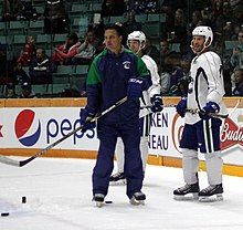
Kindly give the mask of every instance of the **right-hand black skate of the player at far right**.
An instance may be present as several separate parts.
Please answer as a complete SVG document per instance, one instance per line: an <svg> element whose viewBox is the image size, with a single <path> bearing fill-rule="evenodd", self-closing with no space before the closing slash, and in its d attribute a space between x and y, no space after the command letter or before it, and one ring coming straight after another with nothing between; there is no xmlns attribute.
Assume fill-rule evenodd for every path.
<svg viewBox="0 0 243 230"><path fill-rule="evenodd" d="M222 184L209 186L199 192L199 201L220 201L223 200L223 186Z"/></svg>

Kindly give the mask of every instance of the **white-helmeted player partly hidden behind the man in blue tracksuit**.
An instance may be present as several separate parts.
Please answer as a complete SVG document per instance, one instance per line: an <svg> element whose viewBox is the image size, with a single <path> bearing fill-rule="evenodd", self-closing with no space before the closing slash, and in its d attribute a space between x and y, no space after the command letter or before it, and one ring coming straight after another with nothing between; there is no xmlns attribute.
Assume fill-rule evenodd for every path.
<svg viewBox="0 0 243 230"><path fill-rule="evenodd" d="M146 35L141 31L134 31L128 34L127 45L128 48L141 56L141 60L145 62L146 66L150 71L152 85L148 91L142 92L142 97L140 98L140 151L142 168L145 170L147 159L148 159L148 135L150 132L150 122L151 113L161 112L163 108L162 98L160 96L161 86L160 77L158 74L158 66L156 62L148 55L142 54L142 49L145 48ZM148 108L142 108L142 107ZM150 108L149 108L150 107ZM123 184L125 182L126 176L124 175L124 145L120 138L117 140L116 145L116 158L117 158L117 168L118 172L110 177L112 184Z"/></svg>

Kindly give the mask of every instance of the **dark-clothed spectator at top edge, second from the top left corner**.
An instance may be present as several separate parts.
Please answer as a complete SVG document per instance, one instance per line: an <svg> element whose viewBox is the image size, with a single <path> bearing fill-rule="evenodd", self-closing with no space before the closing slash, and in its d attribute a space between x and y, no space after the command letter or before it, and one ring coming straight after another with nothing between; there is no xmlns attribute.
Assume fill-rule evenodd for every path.
<svg viewBox="0 0 243 230"><path fill-rule="evenodd" d="M40 14L32 4L32 0L22 1L22 10L20 13L20 20L35 21Z"/></svg>

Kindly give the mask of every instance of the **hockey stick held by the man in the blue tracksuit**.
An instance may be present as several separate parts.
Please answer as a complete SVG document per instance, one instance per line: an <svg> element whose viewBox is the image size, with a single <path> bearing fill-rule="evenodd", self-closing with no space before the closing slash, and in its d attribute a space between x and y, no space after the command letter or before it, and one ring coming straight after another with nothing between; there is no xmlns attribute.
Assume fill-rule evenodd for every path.
<svg viewBox="0 0 243 230"><path fill-rule="evenodd" d="M104 112L102 112L101 115L93 117L92 119L87 121L87 122L95 122L96 119L99 119L101 117L103 117L104 115L106 115L107 113L109 113L110 111L115 109L116 107L118 107L119 105L122 105L123 103L125 103L127 101L127 96L124 97L123 100L116 102L114 105L112 105L110 107L108 107L107 109L105 109ZM32 157L29 157L28 159L24 160L14 160L4 156L0 156L0 163L7 164L7 165L12 165L12 166L17 166L17 167L22 167L25 166L27 164L29 164L30 161L32 161L33 159L35 159L36 157L40 157L41 155L43 155L45 151L50 150L51 148L55 147L56 145L59 145L60 143L62 143L63 140L65 140L66 138L68 138L70 136L72 136L73 134L75 134L76 132L81 130L84 127L84 125L80 126L78 128L70 132L66 136L63 136L62 138L57 139L56 142L52 143L51 145L49 145L46 148L42 149L41 151L36 153L35 155L33 155Z"/></svg>

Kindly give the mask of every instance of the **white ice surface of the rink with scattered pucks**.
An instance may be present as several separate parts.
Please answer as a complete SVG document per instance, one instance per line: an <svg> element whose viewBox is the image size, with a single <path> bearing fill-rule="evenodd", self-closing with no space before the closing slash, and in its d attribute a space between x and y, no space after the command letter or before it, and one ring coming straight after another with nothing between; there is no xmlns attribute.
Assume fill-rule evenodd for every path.
<svg viewBox="0 0 243 230"><path fill-rule="evenodd" d="M38 158L23 168L0 164L0 230L242 230L243 178L224 176L224 201L176 201L177 168L148 166L145 206L131 206L125 186L110 186L96 208L91 201L95 160ZM207 186L204 172L200 186ZM27 203L21 198L27 197Z"/></svg>

